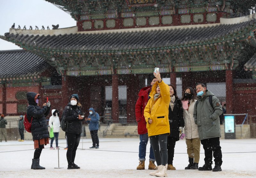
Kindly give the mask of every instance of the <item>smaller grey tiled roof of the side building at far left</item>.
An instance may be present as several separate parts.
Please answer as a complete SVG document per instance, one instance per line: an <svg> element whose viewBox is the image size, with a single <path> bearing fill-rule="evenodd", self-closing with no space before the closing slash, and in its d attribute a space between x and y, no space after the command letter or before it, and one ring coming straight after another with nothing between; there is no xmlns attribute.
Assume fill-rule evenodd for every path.
<svg viewBox="0 0 256 178"><path fill-rule="evenodd" d="M49 64L41 57L25 50L0 51L0 78L36 76Z"/></svg>

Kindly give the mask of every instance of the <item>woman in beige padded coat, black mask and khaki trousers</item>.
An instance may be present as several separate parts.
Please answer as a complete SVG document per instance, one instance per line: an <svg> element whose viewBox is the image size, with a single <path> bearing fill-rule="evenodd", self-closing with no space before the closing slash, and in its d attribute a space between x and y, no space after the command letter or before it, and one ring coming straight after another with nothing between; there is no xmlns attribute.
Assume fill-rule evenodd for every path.
<svg viewBox="0 0 256 178"><path fill-rule="evenodd" d="M198 169L200 158L200 139L198 136L197 125L194 121L193 113L196 103L195 92L193 88L187 87L181 98L183 117L185 123L185 135L187 144L187 153L189 164L185 169ZM195 159L195 160L194 160Z"/></svg>

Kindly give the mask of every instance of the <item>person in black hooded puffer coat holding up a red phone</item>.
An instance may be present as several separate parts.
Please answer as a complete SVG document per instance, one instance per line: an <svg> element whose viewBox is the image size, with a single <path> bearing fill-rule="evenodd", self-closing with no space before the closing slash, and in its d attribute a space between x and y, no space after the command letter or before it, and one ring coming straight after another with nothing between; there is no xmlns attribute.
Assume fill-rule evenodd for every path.
<svg viewBox="0 0 256 178"><path fill-rule="evenodd" d="M39 165L40 155L44 148L44 145L49 144L49 131L46 122L46 116L50 113L51 103L48 101L43 104L43 107L39 107L38 103L40 100L40 95L35 92L28 92L28 108L27 108L27 118L31 122L31 134L34 141L34 159L32 159L31 169L45 169Z"/></svg>

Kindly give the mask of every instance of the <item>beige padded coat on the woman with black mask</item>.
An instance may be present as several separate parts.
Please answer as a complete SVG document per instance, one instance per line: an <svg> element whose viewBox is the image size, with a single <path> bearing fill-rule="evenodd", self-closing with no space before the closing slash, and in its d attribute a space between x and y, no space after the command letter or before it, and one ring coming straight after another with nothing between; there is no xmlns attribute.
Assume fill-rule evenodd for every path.
<svg viewBox="0 0 256 178"><path fill-rule="evenodd" d="M185 135L187 139L192 139L192 138L198 138L198 131L197 131L197 125L194 120L194 107L196 100L192 102L192 100L189 101L189 107L187 109L183 109L183 117L184 117L184 123L185 123Z"/></svg>

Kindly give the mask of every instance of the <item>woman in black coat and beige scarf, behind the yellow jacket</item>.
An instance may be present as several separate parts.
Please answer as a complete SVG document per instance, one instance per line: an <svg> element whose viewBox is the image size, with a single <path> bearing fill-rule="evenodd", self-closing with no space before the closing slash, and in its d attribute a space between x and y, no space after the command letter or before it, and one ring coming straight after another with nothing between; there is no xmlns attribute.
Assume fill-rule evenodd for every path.
<svg viewBox="0 0 256 178"><path fill-rule="evenodd" d="M180 99L177 96L176 89L173 85L170 87L171 101L169 104L169 123L170 123L170 135L167 138L167 150L168 150L168 161L167 169L176 170L172 165L174 157L174 147L176 141L180 140L180 130L184 127L183 119L183 108Z"/></svg>

